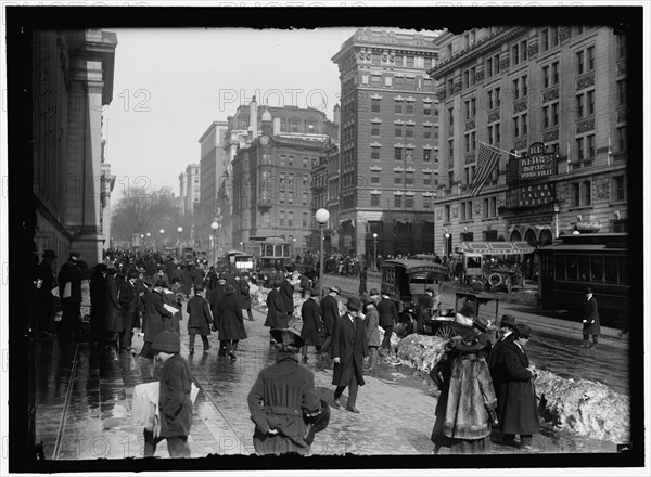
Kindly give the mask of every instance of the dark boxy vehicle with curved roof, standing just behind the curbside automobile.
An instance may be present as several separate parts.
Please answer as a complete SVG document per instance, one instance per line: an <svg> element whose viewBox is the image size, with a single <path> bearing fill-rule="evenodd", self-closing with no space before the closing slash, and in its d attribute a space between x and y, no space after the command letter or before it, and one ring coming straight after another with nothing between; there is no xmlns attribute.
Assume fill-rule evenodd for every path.
<svg viewBox="0 0 651 477"><path fill-rule="evenodd" d="M425 260L384 260L381 291L398 308L398 323L405 335L417 327L417 302L427 288L441 291L441 282L448 275L442 265Z"/></svg>

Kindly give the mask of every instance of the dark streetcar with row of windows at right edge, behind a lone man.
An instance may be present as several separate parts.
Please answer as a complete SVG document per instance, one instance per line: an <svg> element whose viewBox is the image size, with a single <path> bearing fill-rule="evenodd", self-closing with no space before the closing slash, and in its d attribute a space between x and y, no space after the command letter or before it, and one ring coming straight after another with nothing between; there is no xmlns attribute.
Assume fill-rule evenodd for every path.
<svg viewBox="0 0 651 477"><path fill-rule="evenodd" d="M580 321L585 289L599 304L601 324L628 327L630 282L627 233L561 235L538 248L538 298L547 311L570 311Z"/></svg>

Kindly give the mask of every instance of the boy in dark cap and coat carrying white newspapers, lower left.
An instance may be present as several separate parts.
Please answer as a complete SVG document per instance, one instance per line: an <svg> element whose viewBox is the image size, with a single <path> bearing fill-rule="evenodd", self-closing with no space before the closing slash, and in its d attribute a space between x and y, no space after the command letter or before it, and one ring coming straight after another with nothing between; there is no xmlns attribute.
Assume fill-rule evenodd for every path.
<svg viewBox="0 0 651 477"><path fill-rule="evenodd" d="M159 379L158 409L161 433L154 436L144 430L144 456L152 457L156 446L167 439L170 457L190 457L188 435L192 426L192 373L188 361L181 357L181 339L178 333L165 330L156 335L152 345L156 361L163 364Z"/></svg>

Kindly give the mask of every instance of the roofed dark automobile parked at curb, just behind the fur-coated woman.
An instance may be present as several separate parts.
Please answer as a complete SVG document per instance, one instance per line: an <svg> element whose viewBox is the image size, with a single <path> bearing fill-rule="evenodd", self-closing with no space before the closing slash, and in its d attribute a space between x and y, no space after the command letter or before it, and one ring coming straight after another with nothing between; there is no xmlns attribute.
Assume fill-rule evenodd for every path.
<svg viewBox="0 0 651 477"><path fill-rule="evenodd" d="M495 307L495 308L494 308ZM495 343L499 312L499 298L489 293L457 292L455 294L455 308L442 309L433 317L426 318L423 324L423 334L450 339L455 336L465 337L474 333L472 322L480 314L489 321L488 334Z"/></svg>

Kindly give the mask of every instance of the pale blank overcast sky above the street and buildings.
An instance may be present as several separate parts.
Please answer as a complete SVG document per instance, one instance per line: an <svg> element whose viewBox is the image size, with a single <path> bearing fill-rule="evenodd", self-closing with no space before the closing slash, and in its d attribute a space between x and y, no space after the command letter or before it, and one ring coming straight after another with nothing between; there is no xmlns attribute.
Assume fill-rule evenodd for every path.
<svg viewBox="0 0 651 477"><path fill-rule="evenodd" d="M137 180L136 186L171 185L178 194L179 173L200 162L199 138L253 94L258 104L295 103L332 118L340 82L330 59L355 31L106 30L118 41L113 102L104 112L114 199Z"/></svg>

